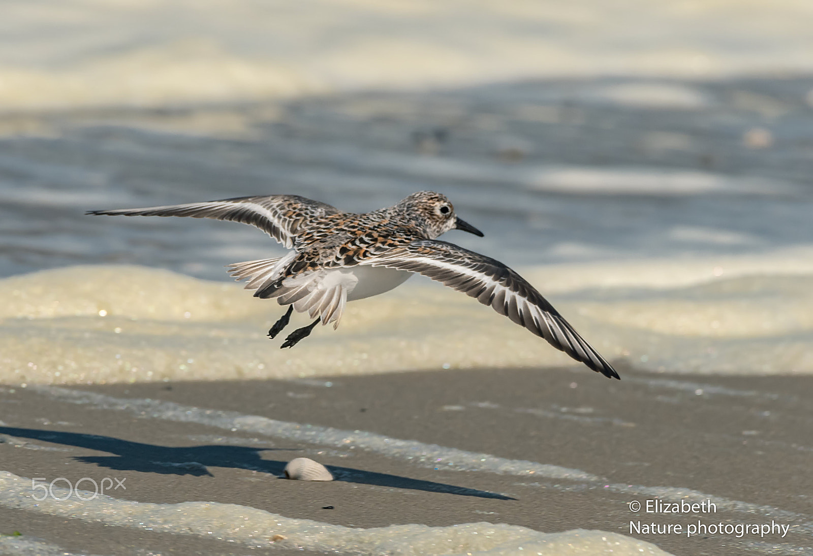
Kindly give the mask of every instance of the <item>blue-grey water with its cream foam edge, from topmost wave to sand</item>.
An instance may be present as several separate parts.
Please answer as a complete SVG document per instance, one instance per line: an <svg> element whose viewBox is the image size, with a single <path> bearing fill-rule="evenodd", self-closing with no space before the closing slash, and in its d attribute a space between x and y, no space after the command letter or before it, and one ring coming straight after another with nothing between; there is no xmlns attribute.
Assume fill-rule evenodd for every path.
<svg viewBox="0 0 813 556"><path fill-rule="evenodd" d="M659 83L37 116L40 132L0 138L0 378L572 363L422 277L351 303L338 331L319 328L309 349L280 351L265 337L280 306L224 271L284 252L263 232L84 214L257 193L369 211L421 189L446 193L485 232L444 239L522 271L611 360L651 371L813 371L813 80ZM698 102L677 102L678 91Z"/></svg>

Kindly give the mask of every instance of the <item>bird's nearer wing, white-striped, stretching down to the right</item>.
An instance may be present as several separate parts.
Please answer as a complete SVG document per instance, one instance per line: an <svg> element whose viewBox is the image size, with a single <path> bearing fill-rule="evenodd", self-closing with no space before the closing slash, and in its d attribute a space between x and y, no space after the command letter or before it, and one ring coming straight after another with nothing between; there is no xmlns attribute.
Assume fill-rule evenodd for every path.
<svg viewBox="0 0 813 556"><path fill-rule="evenodd" d="M553 306L522 276L499 261L437 240L412 241L367 260L375 267L418 272L490 305L500 315L545 338L576 361L610 378L620 378Z"/></svg>

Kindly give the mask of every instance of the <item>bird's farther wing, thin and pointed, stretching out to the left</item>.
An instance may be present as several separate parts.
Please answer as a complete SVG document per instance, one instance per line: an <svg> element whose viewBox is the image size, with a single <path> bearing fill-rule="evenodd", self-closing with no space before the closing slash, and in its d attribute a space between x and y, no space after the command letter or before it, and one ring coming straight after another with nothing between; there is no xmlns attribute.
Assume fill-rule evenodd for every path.
<svg viewBox="0 0 813 556"><path fill-rule="evenodd" d="M313 219L338 213L324 202L311 201L298 195L237 197L220 201L189 202L183 205L150 206L113 211L87 211L88 215L124 216L191 216L231 220L250 224L266 232L291 249L298 233L308 228Z"/></svg>

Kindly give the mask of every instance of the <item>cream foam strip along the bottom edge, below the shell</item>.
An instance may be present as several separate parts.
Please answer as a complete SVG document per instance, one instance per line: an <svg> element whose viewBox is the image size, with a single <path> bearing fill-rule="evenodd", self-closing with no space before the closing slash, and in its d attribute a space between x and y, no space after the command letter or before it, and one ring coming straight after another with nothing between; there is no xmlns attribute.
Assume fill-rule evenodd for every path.
<svg viewBox="0 0 813 556"><path fill-rule="evenodd" d="M66 497L54 488L55 497ZM30 479L0 471L0 505L121 527L171 532L239 542L280 545L332 554L667 554L646 541L612 532L574 529L544 533L505 523L462 523L429 527L417 523L383 528L349 528L310 519L293 519L250 506L218 502L156 504L80 492L57 501L35 500ZM79 498L85 498L80 500ZM90 499L92 498L92 499ZM2 545L0 545L2 548Z"/></svg>

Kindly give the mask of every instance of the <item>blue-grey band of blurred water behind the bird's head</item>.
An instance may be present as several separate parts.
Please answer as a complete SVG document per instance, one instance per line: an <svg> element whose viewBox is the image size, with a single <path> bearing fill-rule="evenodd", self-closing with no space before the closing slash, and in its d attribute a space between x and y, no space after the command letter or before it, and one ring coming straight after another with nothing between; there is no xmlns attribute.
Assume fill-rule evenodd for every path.
<svg viewBox="0 0 813 556"><path fill-rule="evenodd" d="M594 94L651 87L549 80L6 119L33 131L0 136L0 276L133 263L225 280L225 264L280 247L240 224L84 212L263 193L362 212L437 190L485 232L448 241L515 266L811 242L813 80L680 82L706 99L691 107Z"/></svg>

